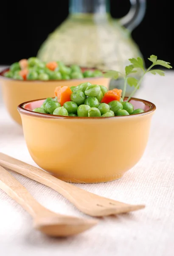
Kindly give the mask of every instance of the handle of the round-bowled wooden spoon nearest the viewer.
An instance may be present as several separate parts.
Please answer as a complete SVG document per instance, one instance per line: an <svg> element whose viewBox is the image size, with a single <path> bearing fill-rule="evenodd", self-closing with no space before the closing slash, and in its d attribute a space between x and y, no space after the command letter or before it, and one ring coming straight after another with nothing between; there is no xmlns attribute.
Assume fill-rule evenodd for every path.
<svg viewBox="0 0 174 256"><path fill-rule="evenodd" d="M47 210L30 195L27 189L21 185L9 172L0 166L0 189L17 201L28 213L35 217L39 211Z"/></svg>

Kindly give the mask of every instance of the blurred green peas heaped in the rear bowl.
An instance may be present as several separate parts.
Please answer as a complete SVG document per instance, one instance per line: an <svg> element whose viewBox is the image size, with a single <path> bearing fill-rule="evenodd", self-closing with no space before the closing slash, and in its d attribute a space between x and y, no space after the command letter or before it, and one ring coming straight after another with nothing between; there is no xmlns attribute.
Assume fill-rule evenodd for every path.
<svg viewBox="0 0 174 256"><path fill-rule="evenodd" d="M28 74L26 79L20 75L20 61L11 64L9 71L4 73L5 77L18 80L69 80L69 79L83 79L87 77L103 76L100 70L85 70L84 72L78 65L66 66L62 61L56 61L58 66L55 70L50 70L46 67L46 62L39 60L36 57L28 58L27 60Z"/></svg>

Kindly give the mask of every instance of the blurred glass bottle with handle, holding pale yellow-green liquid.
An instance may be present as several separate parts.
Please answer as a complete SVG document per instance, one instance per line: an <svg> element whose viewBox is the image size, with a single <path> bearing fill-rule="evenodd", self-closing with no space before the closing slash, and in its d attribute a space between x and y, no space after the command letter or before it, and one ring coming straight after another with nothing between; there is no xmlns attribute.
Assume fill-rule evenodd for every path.
<svg viewBox="0 0 174 256"><path fill-rule="evenodd" d="M109 0L70 0L69 16L48 36L38 57L42 61L60 60L67 65L124 72L129 58L142 56L131 32L143 19L146 0L130 3L129 13L117 20L109 13ZM111 82L111 87L116 86L122 87L122 80ZM128 87L126 95L131 90Z"/></svg>

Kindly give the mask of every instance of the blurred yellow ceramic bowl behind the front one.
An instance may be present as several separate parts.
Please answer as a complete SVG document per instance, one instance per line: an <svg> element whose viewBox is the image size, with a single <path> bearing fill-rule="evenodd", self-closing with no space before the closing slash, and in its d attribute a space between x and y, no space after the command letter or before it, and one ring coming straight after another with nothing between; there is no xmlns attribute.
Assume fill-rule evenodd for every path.
<svg viewBox="0 0 174 256"><path fill-rule="evenodd" d="M20 81L6 78L0 73L0 83L3 92L3 101L11 117L19 124L21 118L17 112L17 106L21 102L27 102L33 99L53 97L56 86L77 86L84 82L91 84L102 84L109 88L110 79L104 77L91 77L84 79L70 79L60 81Z"/></svg>

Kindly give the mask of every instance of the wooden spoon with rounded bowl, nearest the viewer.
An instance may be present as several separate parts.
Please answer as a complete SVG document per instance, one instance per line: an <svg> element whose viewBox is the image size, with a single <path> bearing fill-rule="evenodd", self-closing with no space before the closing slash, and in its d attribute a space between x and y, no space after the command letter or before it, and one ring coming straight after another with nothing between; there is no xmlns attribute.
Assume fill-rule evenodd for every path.
<svg viewBox="0 0 174 256"><path fill-rule="evenodd" d="M0 166L0 189L34 218L34 227L49 236L72 236L90 229L97 221L57 214L39 204L9 172Z"/></svg>

